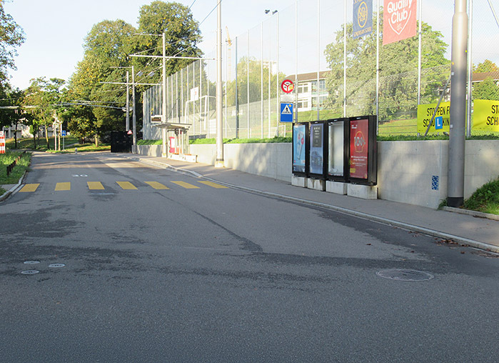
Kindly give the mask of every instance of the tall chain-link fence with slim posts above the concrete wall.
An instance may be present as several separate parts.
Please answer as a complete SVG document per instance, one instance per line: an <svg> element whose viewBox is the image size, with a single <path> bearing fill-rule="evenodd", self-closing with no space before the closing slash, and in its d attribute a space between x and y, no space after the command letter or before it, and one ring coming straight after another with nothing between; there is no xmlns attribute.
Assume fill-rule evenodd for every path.
<svg viewBox="0 0 499 363"><path fill-rule="evenodd" d="M388 1L388 0L387 0ZM416 1L416 0L413 0ZM454 1L418 0L415 36L383 45L383 0L372 0L372 31L353 37L356 0L300 0L223 44L223 136L284 135L281 81L291 79L294 121L377 114L378 134L418 133L418 104L448 101ZM369 1L364 1L369 2ZM392 1L394 2L394 1ZM340 3L340 4L338 4ZM468 73L473 97L499 80L499 0L468 0ZM216 135L214 53L168 77L168 122L189 124L194 138ZM345 69L346 65L346 69ZM481 83L480 83L481 82ZM477 91L478 89L478 91ZM490 93L490 92L489 92ZM144 94L144 138L160 136L161 86Z"/></svg>

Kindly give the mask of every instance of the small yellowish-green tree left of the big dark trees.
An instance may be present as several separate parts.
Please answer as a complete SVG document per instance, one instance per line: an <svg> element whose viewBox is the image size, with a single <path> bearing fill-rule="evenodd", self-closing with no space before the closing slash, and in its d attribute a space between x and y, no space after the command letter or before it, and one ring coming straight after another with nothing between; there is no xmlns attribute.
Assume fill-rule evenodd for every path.
<svg viewBox="0 0 499 363"><path fill-rule="evenodd" d="M49 125L54 120L57 111L61 109L61 87L66 81L64 79L45 77L31 79L31 85L26 89L24 96L25 106L34 106L26 108L26 112L31 114L31 123L34 131L44 126L47 149L50 149L49 143Z"/></svg>

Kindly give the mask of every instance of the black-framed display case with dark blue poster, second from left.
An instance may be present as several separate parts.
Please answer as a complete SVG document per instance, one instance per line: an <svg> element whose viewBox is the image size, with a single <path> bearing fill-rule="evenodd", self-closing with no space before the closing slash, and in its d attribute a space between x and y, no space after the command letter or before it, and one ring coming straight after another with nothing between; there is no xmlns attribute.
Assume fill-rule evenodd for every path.
<svg viewBox="0 0 499 363"><path fill-rule="evenodd" d="M327 133L328 129L326 121L316 121L310 123L308 175L316 179L326 179L328 156L326 151Z"/></svg>

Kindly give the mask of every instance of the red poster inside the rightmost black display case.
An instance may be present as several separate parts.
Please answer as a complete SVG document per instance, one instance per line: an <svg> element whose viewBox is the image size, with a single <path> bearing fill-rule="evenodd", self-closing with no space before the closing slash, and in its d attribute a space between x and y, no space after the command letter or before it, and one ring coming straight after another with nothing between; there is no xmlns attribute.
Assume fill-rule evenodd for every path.
<svg viewBox="0 0 499 363"><path fill-rule="evenodd" d="M350 121L350 176L368 179L368 119Z"/></svg>

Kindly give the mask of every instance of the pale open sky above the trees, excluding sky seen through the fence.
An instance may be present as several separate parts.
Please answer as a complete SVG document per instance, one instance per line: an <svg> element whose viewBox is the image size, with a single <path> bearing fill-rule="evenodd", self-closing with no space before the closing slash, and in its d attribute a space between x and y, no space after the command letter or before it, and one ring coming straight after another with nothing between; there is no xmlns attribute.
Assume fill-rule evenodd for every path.
<svg viewBox="0 0 499 363"><path fill-rule="evenodd" d="M191 6L194 19L201 22L216 7L217 0L176 0ZM84 38L94 24L122 19L137 27L141 6L151 0L6 0L4 9L13 16L26 34L15 58L17 71L9 71L11 84L26 89L29 80L41 76L68 80L76 64L83 59ZM281 10L295 0L224 0L222 6L223 39L227 26L231 37L243 34L268 18L266 9ZM216 9L200 26L205 54L216 46Z"/></svg>

